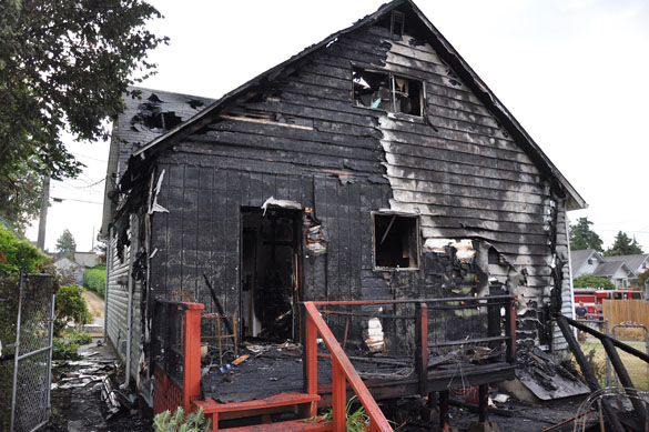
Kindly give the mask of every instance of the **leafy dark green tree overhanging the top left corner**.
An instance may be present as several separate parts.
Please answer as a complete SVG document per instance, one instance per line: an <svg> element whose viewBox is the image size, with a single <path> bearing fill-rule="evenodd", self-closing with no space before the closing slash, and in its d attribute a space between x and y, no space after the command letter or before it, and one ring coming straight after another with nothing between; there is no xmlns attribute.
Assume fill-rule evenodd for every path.
<svg viewBox="0 0 649 432"><path fill-rule="evenodd" d="M153 73L146 53L166 38L143 0L0 1L0 217L24 228L38 213L42 179L82 167L61 132L108 137L126 87ZM132 78L139 71L140 76Z"/></svg>

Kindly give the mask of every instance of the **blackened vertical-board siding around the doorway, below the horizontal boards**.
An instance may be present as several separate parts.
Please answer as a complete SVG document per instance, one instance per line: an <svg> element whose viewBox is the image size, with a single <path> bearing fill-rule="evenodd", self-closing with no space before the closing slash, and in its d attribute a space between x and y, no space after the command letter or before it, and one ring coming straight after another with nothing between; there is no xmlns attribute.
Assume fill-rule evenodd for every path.
<svg viewBox="0 0 649 432"><path fill-rule="evenodd" d="M202 274L213 281L224 308L239 310L241 208L261 207L270 197L314 207L328 233L326 258L304 255L304 295L310 300L388 295L372 272L371 210L387 204L385 183L343 184L339 179L260 171L239 160L176 153L159 162L165 170L159 203L169 213L153 218L151 292L214 308ZM315 203L315 205L314 205ZM324 261L326 260L326 265ZM361 270L359 270L361 269ZM378 282L377 282L378 280Z"/></svg>

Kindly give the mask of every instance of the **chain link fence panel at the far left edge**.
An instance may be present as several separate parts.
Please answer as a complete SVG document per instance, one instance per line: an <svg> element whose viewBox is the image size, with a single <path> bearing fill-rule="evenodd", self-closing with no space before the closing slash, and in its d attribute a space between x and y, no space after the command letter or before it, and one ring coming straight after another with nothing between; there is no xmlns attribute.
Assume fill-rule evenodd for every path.
<svg viewBox="0 0 649 432"><path fill-rule="evenodd" d="M49 274L0 278L2 431L33 431L49 419L54 289Z"/></svg>

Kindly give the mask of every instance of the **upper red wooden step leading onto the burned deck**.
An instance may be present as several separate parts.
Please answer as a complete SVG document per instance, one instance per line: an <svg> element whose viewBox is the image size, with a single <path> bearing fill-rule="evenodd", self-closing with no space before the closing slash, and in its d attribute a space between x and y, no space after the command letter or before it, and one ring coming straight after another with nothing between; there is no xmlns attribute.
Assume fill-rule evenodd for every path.
<svg viewBox="0 0 649 432"><path fill-rule="evenodd" d="M203 401L194 401L193 404L196 409L202 408L205 418L212 419L212 428L214 428L213 430L219 430L217 428L221 421L252 416L262 416L264 419L264 424L261 424L260 426L272 426L273 424L287 423L271 423L271 414L283 412L292 412L300 419L307 419L315 415L318 401L320 395L317 394L291 392L274 394L265 399L230 403L220 403L212 398L206 398ZM302 422L302 425L304 426L304 421ZM287 426L290 425L291 424L287 423Z"/></svg>

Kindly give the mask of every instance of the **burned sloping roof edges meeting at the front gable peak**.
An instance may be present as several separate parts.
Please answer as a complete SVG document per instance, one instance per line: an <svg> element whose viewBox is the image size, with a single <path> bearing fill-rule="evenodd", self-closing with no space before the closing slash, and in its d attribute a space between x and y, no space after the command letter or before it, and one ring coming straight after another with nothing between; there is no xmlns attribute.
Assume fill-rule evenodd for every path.
<svg viewBox="0 0 649 432"><path fill-rule="evenodd" d="M489 107L498 120L504 127L513 133L517 139L517 142L523 147L524 151L531 158L531 160L546 173L552 181L556 189L567 193L567 210L579 210L586 209L588 204L577 192L577 190L568 182L568 180L561 174L561 172L555 167L550 159L544 153L539 145L531 139L527 131L520 125L520 123L514 118L514 115L505 108L505 106L496 98L494 92L485 84L485 82L478 77L478 74L468 66L468 63L462 58L462 56L453 48L453 46L444 38L444 36L433 26L430 21L424 16L424 13L417 8L412 0L394 0L391 3L383 4L378 10L358 21L351 27L339 30L335 33L323 39L321 42L315 43L302 52L291 57L288 60L268 69L267 71L258 74L246 83L240 86L235 90L224 94L221 99L215 101L203 111L189 119L187 121L176 125L168 133L156 138L142 149L133 153L133 158L138 158L141 161L146 159L146 154L151 149L163 143L172 143L184 137L200 130L212 121L212 118L219 113L219 110L226 103L235 100L239 97L244 96L247 91L253 90L255 86L261 86L266 82L273 81L277 76L283 72L286 68L293 63L302 60L310 53L327 46L329 42L335 41L342 34L354 31L365 24L377 21L382 16L392 11L393 9L403 4L408 6L422 20L422 22L428 28L430 38L428 42L438 51L438 54L458 73L458 76L467 82L467 84L475 91L476 96ZM158 150L158 149L155 149ZM152 151L151 154L154 154ZM139 165L139 163L138 163Z"/></svg>

